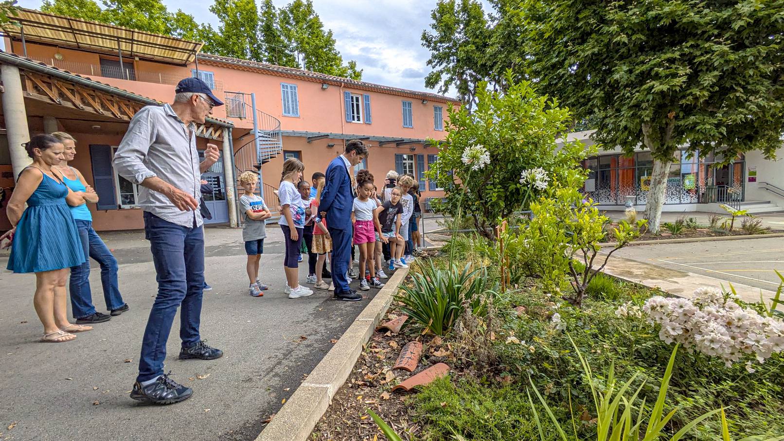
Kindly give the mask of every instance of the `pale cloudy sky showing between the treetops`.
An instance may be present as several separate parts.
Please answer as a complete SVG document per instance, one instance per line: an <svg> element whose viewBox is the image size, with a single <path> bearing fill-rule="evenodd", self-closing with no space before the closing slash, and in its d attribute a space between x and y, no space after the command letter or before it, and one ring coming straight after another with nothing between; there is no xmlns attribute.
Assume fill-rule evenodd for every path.
<svg viewBox="0 0 784 441"><path fill-rule="evenodd" d="M362 79L419 91L430 72L430 52L422 47L422 31L430 27L430 11L437 0L314 0L321 21L332 29L343 60L357 60ZM171 11L183 9L200 23L212 23L211 1L163 0ZM278 7L289 0L274 0ZM100 3L100 2L99 2ZM38 9L40 0L21 0L25 8ZM487 10L487 9L485 9Z"/></svg>

